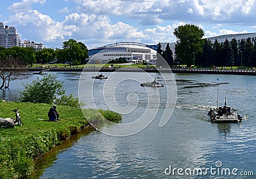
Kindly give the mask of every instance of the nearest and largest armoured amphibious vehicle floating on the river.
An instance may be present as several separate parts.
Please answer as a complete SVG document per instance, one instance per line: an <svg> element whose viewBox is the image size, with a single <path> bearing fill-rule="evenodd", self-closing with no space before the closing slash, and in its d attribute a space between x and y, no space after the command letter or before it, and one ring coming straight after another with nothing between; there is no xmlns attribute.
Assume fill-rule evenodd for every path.
<svg viewBox="0 0 256 179"><path fill-rule="evenodd" d="M236 112L236 110L230 106L227 106L226 97L225 105L217 108L213 108L208 112L211 122L241 122L242 117Z"/></svg>

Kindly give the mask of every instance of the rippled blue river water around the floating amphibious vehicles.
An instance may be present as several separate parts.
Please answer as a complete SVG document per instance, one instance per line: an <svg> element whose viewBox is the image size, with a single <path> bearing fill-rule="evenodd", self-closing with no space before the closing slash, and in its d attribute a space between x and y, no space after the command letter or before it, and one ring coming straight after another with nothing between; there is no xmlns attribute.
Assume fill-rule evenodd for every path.
<svg viewBox="0 0 256 179"><path fill-rule="evenodd" d="M64 82L68 93L79 94L79 74L58 73L58 78ZM140 73L133 74L140 76ZM95 73L84 75L89 79ZM108 76L110 73L104 75ZM161 75L150 75L164 83ZM119 73L118 76L127 78L125 73ZM118 137L94 130L86 131L86 134L81 134L72 141L72 145L59 147L57 152L52 152L54 157L41 161L47 163L47 168L38 177L255 178L252 175L256 175L256 76L174 74L174 77L177 101L166 125L159 127L160 111L145 129L136 134ZM28 81L33 78L35 76ZM15 99L10 94L22 90L22 87L20 82L13 83L16 83L11 83L13 89L1 91L0 97L2 95L6 100ZM131 122L141 115L138 111L141 111L145 101L140 102L140 99L148 92L145 93L144 88L137 83L125 80L115 89L116 101L120 106L127 106L127 99L123 98L127 97L126 92L135 93L139 99L136 104L139 110L135 109L124 115L121 123ZM218 83L220 84L217 85ZM103 103L99 92L102 84L102 80L93 82L99 94L94 96L94 100L96 106L106 108L108 105ZM208 121L207 110L216 106L217 91L218 105L223 105L227 96L227 104L237 109L243 122L212 124ZM149 90L150 92L152 91ZM157 92L161 94L162 91L159 89ZM93 105L85 104L86 107ZM163 106L160 99L158 108L168 108L168 105Z"/></svg>

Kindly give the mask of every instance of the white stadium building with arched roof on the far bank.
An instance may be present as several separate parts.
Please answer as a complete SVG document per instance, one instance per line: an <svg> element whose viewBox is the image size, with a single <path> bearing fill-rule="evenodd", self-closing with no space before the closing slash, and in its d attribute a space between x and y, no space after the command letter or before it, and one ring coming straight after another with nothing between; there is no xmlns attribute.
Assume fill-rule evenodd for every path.
<svg viewBox="0 0 256 179"><path fill-rule="evenodd" d="M113 43L88 50L88 54L91 64L106 64L120 57L127 62L154 62L157 59L156 50L136 42Z"/></svg>

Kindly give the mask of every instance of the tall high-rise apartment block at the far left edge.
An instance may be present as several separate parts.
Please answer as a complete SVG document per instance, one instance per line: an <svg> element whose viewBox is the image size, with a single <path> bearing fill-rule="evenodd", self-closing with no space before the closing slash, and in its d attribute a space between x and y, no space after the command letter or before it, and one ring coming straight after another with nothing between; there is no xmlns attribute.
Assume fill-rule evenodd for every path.
<svg viewBox="0 0 256 179"><path fill-rule="evenodd" d="M0 47L10 48L14 46L20 46L19 34L14 27L8 27L8 25L0 22Z"/></svg>

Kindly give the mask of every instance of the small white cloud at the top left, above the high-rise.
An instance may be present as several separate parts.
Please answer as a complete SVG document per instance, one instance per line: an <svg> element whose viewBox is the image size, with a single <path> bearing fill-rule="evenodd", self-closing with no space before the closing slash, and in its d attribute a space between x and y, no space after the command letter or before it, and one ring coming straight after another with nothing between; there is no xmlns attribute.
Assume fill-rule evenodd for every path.
<svg viewBox="0 0 256 179"><path fill-rule="evenodd" d="M35 3L44 4L46 0L22 0L19 3L13 3L11 6L8 7L8 10L13 11L15 13L22 12L22 11L29 11L31 10L31 6Z"/></svg>

